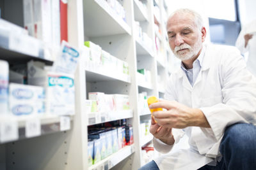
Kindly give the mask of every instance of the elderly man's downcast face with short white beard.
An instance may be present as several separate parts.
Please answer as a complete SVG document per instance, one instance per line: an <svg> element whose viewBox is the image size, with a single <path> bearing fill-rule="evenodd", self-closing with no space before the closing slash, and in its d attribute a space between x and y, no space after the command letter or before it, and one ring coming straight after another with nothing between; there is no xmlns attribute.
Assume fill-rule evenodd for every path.
<svg viewBox="0 0 256 170"><path fill-rule="evenodd" d="M198 56L202 48L202 32L198 29L193 16L175 14L167 22L169 45L172 52L180 60L188 60Z"/></svg>

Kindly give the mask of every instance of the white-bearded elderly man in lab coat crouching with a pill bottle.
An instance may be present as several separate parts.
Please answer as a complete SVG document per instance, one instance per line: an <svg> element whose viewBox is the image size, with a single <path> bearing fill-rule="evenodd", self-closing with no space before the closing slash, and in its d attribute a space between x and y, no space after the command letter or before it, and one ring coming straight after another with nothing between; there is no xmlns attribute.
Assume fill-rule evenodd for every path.
<svg viewBox="0 0 256 170"><path fill-rule="evenodd" d="M183 134L190 148L141 169L256 169L256 80L239 50L204 45L205 27L193 10L175 11L166 28L182 62L170 76L166 100L150 105L165 109L153 113L150 132L159 152L170 152Z"/></svg>

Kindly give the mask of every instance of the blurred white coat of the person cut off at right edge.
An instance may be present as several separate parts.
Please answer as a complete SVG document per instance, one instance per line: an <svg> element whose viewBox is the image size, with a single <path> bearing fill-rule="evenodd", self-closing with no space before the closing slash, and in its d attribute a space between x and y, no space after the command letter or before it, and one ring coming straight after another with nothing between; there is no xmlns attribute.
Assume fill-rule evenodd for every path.
<svg viewBox="0 0 256 170"><path fill-rule="evenodd" d="M244 48L245 34L253 34L253 37L248 41L248 45L246 46L246 48ZM247 24L243 27L236 40L236 47L243 55L246 55L246 52L248 52L248 55L246 55L248 56L246 65L248 67L248 70L256 76L256 20L250 22L250 24Z"/></svg>

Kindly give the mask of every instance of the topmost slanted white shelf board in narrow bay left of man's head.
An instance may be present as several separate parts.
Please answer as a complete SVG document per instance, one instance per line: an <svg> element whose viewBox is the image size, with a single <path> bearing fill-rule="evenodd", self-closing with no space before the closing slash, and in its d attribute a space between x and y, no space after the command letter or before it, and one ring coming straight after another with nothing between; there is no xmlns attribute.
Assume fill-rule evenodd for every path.
<svg viewBox="0 0 256 170"><path fill-rule="evenodd" d="M148 14L140 1L134 0L134 18L136 21L148 21Z"/></svg>

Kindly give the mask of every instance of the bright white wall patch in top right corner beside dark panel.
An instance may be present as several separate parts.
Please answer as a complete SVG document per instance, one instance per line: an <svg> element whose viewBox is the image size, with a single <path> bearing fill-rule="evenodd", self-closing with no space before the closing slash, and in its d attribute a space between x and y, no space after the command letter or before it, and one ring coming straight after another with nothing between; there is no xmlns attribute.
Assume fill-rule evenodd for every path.
<svg viewBox="0 0 256 170"><path fill-rule="evenodd" d="M256 1L255 0L239 0L239 11L241 26L248 24L256 19Z"/></svg>

